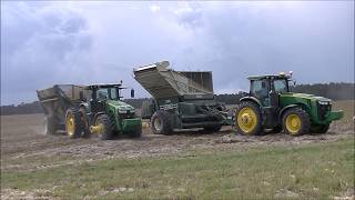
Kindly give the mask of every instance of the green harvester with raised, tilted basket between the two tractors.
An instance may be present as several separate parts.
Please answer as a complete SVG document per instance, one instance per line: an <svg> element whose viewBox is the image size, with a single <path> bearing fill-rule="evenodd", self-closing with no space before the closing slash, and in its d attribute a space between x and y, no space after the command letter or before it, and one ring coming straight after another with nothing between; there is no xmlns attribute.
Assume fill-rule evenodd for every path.
<svg viewBox="0 0 355 200"><path fill-rule="evenodd" d="M162 61L133 69L134 79L153 97L143 102L142 118L150 119L154 133L219 131L229 124L224 104L215 100L211 71L174 71L169 66Z"/></svg>

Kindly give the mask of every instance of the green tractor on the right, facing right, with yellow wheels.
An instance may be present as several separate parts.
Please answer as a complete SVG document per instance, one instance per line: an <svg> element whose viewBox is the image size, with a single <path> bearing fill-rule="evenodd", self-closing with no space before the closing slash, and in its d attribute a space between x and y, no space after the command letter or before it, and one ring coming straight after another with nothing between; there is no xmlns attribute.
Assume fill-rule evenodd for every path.
<svg viewBox="0 0 355 200"><path fill-rule="evenodd" d="M332 100L306 93L291 92L292 72L248 77L250 93L240 99L234 112L234 127L242 134L263 131L301 136L325 133L343 111L332 111Z"/></svg>

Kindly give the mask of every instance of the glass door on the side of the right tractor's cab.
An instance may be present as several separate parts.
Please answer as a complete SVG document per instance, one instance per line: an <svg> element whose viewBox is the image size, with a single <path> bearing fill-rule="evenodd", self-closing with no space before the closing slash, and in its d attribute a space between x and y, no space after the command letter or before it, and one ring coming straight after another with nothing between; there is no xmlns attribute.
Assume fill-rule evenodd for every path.
<svg viewBox="0 0 355 200"><path fill-rule="evenodd" d="M251 94L258 99L263 107L270 107L270 80L252 80Z"/></svg>

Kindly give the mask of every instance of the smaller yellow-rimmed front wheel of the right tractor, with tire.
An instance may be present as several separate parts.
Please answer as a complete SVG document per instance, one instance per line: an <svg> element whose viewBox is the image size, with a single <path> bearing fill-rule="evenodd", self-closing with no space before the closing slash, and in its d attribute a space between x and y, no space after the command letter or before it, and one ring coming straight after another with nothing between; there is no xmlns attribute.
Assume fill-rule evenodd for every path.
<svg viewBox="0 0 355 200"><path fill-rule="evenodd" d="M292 120L291 118L293 118L293 117L297 118L296 119L297 122L295 123L295 126L293 126L293 124L290 124L291 122L288 121L288 126L287 126L286 120ZM311 124L310 124L308 113L301 108L292 108L292 109L287 110L283 114L282 121L283 121L284 131L291 136L301 136L301 134L310 132ZM301 124L298 124L298 123L301 123Z"/></svg>

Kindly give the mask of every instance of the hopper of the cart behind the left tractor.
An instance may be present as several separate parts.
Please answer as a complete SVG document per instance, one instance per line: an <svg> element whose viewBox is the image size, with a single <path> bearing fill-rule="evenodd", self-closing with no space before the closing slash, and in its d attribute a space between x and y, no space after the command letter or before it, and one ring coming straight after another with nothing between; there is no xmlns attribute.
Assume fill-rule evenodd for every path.
<svg viewBox="0 0 355 200"><path fill-rule="evenodd" d="M84 91L82 86L54 84L48 89L37 90L37 96L45 117L54 120L59 126L64 126L67 110L81 102L81 91Z"/></svg>

